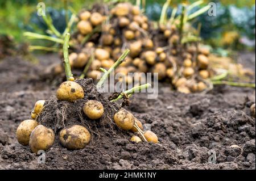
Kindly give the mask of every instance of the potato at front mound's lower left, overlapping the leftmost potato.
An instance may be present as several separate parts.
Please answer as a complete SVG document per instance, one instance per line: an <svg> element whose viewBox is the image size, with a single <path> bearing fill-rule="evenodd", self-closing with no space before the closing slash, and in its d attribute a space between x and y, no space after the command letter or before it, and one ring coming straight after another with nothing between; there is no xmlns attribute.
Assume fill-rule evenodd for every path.
<svg viewBox="0 0 256 181"><path fill-rule="evenodd" d="M30 135L30 149L37 153L39 150L48 150L53 145L55 134L51 128L38 125Z"/></svg>

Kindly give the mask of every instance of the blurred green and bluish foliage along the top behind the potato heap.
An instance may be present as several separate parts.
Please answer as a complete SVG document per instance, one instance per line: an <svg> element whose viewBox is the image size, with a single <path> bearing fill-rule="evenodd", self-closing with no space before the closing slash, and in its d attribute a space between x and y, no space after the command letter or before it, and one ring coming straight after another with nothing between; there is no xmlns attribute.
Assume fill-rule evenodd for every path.
<svg viewBox="0 0 256 181"><path fill-rule="evenodd" d="M46 25L40 17L36 16L36 5L39 2L46 4L47 12L52 16L53 23L59 31L63 31L65 21L58 20L65 14L63 1L0 0L0 33L12 35L16 41L23 41L22 33L24 31L45 32ZM93 3L102 1L106 0L69 0L69 5L73 10L79 12L82 7L88 9ZM113 2L113 0L109 1ZM171 6L174 7L180 3L190 4L195 1L197 0L172 0ZM135 2L135 0L130 2ZM158 20L164 2L166 0L146 0L146 14L151 19ZM205 0L205 5L209 2L217 3L218 15L216 17L201 15L193 23L195 26L199 22L203 24L201 36L208 40L210 44L219 46L222 37L226 35L227 37L230 35L236 37L234 31L237 31L239 35L255 39L255 0ZM168 10L169 15L171 10L171 8ZM228 32L231 32L230 35Z"/></svg>

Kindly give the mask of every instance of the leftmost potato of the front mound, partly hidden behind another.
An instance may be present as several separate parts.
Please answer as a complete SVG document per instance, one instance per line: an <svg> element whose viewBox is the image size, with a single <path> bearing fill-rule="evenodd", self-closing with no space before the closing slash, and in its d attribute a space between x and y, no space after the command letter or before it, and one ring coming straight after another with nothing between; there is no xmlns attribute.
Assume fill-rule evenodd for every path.
<svg viewBox="0 0 256 181"><path fill-rule="evenodd" d="M22 145L28 145L30 142L30 134L38 126L38 122L32 119L24 120L20 123L16 131L16 138Z"/></svg>

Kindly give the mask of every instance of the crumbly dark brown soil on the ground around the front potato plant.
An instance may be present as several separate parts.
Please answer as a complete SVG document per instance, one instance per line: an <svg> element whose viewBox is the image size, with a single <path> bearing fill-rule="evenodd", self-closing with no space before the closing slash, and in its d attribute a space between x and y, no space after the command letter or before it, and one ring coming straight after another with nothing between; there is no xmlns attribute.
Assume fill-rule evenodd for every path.
<svg viewBox="0 0 256 181"><path fill-rule="evenodd" d="M253 57L245 65L255 65ZM67 150L56 139L46 151L46 163L39 164L28 146L18 144L15 131L30 118L36 100L55 94L56 83L38 74L57 61L49 55L40 57L39 65L18 57L0 62L0 169L255 169L255 119L250 115L255 89L217 86L207 95L184 95L165 84L157 99L137 94L126 107L158 134L159 144L133 144L131 133L86 120L92 121L94 133L85 149ZM96 97L92 93L85 99ZM209 150L216 151L216 164L208 163Z"/></svg>

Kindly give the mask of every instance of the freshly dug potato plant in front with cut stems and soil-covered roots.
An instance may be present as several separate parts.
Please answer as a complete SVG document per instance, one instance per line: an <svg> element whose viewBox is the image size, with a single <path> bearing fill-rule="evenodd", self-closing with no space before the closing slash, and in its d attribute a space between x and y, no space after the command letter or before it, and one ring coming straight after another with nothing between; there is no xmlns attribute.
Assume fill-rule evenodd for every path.
<svg viewBox="0 0 256 181"><path fill-rule="evenodd" d="M63 45L67 81L61 83L56 95L36 102L34 107L34 112L38 113L36 121L28 120L20 124L17 130L19 142L27 145L29 138L32 152L37 153L38 150L51 148L55 135L59 135L63 147L76 150L85 148L93 137L105 133L105 129L109 129L112 135L128 134L124 131L129 131L133 127L136 128L133 131L137 132L143 141L147 141L143 136L141 122L115 102L122 99L124 94L132 95L136 90L147 89L150 85L133 87L131 90L121 92L115 99L107 99L103 92L98 91L108 79L109 74L125 61L130 51L126 50L108 71L104 71L97 85L94 85L92 79L73 80L68 56L69 37L67 33ZM98 121L92 121L92 119ZM29 129L26 129L27 127ZM99 129L101 131L103 129L102 133L98 132ZM139 138L136 138L136 142L139 142Z"/></svg>

